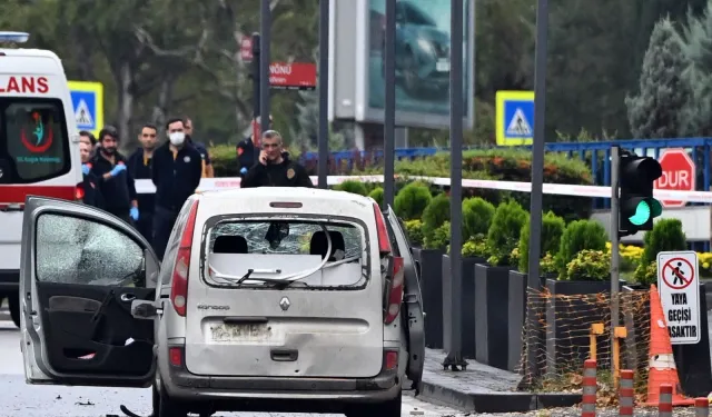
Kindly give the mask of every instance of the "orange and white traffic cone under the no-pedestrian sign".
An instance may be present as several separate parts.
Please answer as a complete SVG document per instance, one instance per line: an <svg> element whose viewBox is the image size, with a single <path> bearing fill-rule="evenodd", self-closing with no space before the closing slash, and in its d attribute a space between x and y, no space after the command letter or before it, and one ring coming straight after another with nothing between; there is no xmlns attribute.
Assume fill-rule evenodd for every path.
<svg viewBox="0 0 712 417"><path fill-rule="evenodd" d="M647 374L647 401L646 406L657 406L660 403L660 386L669 384L672 386L672 405L691 406L694 399L686 398L680 391L680 379L675 358L672 355L672 345L663 305L660 301L657 288L653 285L650 288L650 365Z"/></svg>

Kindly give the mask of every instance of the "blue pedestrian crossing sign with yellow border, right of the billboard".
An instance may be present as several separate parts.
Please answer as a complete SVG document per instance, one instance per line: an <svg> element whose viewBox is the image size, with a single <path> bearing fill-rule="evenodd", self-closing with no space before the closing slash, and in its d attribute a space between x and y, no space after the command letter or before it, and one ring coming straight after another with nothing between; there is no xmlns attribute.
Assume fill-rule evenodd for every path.
<svg viewBox="0 0 712 417"><path fill-rule="evenodd" d="M497 91L497 146L532 145L534 140L534 91Z"/></svg>

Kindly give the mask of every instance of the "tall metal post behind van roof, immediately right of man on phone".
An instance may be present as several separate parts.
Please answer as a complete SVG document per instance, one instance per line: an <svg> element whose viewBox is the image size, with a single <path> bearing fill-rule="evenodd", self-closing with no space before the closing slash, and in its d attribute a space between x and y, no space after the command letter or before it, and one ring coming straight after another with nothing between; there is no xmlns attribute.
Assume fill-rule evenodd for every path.
<svg viewBox="0 0 712 417"><path fill-rule="evenodd" d="M329 159L329 2L319 0L319 188L326 189Z"/></svg>

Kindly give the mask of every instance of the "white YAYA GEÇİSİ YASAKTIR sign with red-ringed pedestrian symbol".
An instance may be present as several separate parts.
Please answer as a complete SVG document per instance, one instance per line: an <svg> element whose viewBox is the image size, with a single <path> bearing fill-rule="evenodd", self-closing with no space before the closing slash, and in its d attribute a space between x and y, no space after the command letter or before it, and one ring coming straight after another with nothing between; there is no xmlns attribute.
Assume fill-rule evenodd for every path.
<svg viewBox="0 0 712 417"><path fill-rule="evenodd" d="M657 254L657 290L673 345L700 342L700 276L698 254Z"/></svg>

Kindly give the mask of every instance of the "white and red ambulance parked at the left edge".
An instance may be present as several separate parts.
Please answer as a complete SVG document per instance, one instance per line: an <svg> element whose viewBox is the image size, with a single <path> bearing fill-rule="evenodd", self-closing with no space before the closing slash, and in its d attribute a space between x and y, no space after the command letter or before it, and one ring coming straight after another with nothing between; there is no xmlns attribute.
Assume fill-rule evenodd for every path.
<svg viewBox="0 0 712 417"><path fill-rule="evenodd" d="M83 197L79 132L56 53L20 49L28 33L0 31L0 300L19 326L27 196Z"/></svg>

